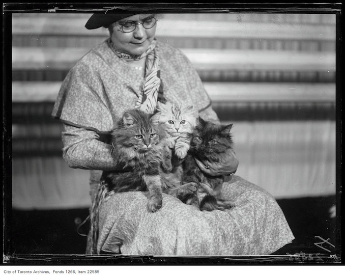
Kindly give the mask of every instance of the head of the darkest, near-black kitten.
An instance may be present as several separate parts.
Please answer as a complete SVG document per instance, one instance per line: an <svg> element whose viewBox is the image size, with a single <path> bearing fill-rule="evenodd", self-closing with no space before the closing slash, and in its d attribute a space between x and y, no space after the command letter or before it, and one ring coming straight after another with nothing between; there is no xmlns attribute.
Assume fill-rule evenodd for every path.
<svg viewBox="0 0 345 275"><path fill-rule="evenodd" d="M233 124L217 125L199 118L193 133L191 152L203 158L216 158L217 154L232 148L230 133Z"/></svg>

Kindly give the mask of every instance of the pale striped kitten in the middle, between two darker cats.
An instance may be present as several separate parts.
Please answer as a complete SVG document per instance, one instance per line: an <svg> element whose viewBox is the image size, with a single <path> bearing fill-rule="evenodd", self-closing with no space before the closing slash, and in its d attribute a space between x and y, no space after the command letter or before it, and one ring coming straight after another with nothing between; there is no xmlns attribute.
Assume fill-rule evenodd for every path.
<svg viewBox="0 0 345 275"><path fill-rule="evenodd" d="M175 103L157 103L158 113L154 115L168 134L167 145L175 151L179 159L187 156L193 130L197 124L198 114L193 106Z"/></svg>

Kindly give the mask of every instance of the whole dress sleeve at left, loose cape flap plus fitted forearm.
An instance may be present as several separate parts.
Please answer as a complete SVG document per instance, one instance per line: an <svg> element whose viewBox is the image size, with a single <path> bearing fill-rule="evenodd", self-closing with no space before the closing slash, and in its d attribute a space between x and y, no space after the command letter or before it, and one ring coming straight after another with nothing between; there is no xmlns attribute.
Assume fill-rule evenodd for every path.
<svg viewBox="0 0 345 275"><path fill-rule="evenodd" d="M112 146L102 142L113 128L104 86L89 53L69 71L55 101L52 116L64 123L63 157L71 168L113 170ZM100 138L102 137L102 139Z"/></svg>

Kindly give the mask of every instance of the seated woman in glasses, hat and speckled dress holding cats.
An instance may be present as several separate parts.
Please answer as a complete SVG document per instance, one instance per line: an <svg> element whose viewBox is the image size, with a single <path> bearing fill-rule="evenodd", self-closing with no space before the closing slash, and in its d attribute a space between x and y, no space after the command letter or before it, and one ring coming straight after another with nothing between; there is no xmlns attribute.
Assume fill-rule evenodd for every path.
<svg viewBox="0 0 345 275"><path fill-rule="evenodd" d="M194 105L200 117L219 122L190 61L155 39L157 21L155 14L93 14L85 27L103 26L110 37L70 70L55 102L52 115L65 127L63 156L70 167L91 170L93 201L102 171L119 170L109 136L125 110L153 113L157 101L170 101ZM211 176L228 175L238 160L229 153L220 162L205 167L198 161L198 166ZM234 175L223 195L236 207L200 211L164 194L162 208L152 213L139 191L103 197L94 221L97 238L89 238L87 253L258 255L293 240L281 209L265 190Z"/></svg>

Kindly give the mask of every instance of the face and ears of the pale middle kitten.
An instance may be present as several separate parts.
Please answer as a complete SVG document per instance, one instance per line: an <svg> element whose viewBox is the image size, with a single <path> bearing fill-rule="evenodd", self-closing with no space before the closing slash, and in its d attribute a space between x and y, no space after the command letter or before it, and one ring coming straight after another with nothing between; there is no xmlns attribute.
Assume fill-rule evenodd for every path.
<svg viewBox="0 0 345 275"><path fill-rule="evenodd" d="M181 106L167 102L157 103L158 122L165 126L166 131L172 135L192 133L197 123L197 115L193 106Z"/></svg>

